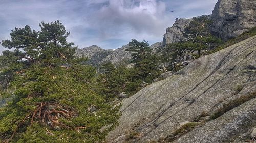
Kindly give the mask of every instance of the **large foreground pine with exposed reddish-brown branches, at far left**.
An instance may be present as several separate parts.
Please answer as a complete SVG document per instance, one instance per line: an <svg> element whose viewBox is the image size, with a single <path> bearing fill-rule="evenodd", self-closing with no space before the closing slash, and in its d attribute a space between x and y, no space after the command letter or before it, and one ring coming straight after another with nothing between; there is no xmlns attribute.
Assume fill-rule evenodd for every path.
<svg viewBox="0 0 256 143"><path fill-rule="evenodd" d="M56 21L40 28L15 28L2 42L14 50L0 56L0 96L11 98L0 110L1 142L102 141L117 124L118 108L93 90L96 70L74 58L65 27Z"/></svg>

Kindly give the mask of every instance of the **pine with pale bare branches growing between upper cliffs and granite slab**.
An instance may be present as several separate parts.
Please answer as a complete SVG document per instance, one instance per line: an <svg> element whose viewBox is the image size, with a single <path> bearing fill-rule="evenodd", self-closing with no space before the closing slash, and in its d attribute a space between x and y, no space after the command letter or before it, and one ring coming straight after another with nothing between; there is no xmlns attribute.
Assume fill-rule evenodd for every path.
<svg viewBox="0 0 256 143"><path fill-rule="evenodd" d="M160 51L164 59L162 62L172 63L170 70L178 71L189 61L205 55L208 50L214 49L222 43L220 38L209 32L211 21L207 16L194 17L190 25L185 28L184 36L188 41L181 41L167 45ZM196 52L196 53L195 53Z"/></svg>

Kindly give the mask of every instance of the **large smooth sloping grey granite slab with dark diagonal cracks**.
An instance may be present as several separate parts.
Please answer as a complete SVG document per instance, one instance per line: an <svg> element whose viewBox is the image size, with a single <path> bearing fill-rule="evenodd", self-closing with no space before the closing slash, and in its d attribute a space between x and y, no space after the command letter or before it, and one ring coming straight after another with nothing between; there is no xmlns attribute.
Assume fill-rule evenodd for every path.
<svg viewBox="0 0 256 143"><path fill-rule="evenodd" d="M176 135L173 142L250 139L256 126L255 50L256 36L202 56L172 76L147 85L122 102L120 124L109 133L108 141L161 141L185 125L194 128ZM209 119L216 113L219 116Z"/></svg>

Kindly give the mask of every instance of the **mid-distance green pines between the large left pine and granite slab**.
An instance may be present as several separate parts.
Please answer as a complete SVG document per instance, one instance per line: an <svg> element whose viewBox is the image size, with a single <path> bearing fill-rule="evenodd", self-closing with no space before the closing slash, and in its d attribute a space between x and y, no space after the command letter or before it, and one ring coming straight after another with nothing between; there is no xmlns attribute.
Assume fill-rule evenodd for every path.
<svg viewBox="0 0 256 143"><path fill-rule="evenodd" d="M152 49L146 41L138 42L133 39L129 46L127 51L132 52L130 63L134 63L134 67L115 67L111 62L101 66L104 72L98 78L101 87L98 91L108 99L115 98L122 92L135 94L142 88L141 83L151 83L160 74L157 70L158 58L152 54Z"/></svg>

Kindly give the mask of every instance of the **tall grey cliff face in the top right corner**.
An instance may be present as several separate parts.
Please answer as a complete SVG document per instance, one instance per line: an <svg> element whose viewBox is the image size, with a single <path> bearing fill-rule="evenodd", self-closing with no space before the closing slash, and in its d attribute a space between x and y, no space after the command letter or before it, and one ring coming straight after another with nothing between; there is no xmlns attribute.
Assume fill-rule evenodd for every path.
<svg viewBox="0 0 256 143"><path fill-rule="evenodd" d="M224 40L256 26L256 0L219 0L212 11L210 30Z"/></svg>

